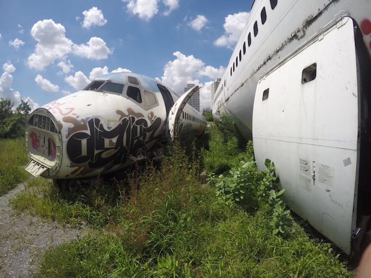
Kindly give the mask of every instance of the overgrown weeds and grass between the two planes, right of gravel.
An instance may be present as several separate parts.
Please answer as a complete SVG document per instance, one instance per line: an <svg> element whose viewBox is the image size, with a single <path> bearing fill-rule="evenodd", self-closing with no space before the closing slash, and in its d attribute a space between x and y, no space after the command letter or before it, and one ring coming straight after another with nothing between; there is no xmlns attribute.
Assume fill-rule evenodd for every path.
<svg viewBox="0 0 371 278"><path fill-rule="evenodd" d="M240 146L217 125L209 136L202 156L175 143L160 164L138 166L124 181L61 194L30 180L12 201L18 210L98 231L47 250L37 276L353 277L330 244L291 218L269 160L258 172L251 143ZM226 172L209 171L206 185L200 165Z"/></svg>

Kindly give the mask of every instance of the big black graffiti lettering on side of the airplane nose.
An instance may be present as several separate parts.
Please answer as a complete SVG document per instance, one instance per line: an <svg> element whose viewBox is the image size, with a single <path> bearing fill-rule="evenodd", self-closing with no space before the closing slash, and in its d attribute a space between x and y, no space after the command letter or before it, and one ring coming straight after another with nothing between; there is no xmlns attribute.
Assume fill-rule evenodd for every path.
<svg viewBox="0 0 371 278"><path fill-rule="evenodd" d="M76 132L69 131L67 155L72 162L71 166L78 167L72 174L86 166L97 169L124 164L130 155L138 157L144 151L150 152L155 148L156 142L161 141L163 124L160 118L155 118L148 125L143 115L141 118L136 117L139 115L119 115L122 116L119 123L110 129L100 118L91 118L71 129Z"/></svg>

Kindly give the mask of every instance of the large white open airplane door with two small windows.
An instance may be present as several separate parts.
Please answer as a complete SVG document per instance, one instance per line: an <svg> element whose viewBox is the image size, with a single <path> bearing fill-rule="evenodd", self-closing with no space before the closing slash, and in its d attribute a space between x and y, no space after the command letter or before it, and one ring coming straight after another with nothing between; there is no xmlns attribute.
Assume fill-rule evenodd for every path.
<svg viewBox="0 0 371 278"><path fill-rule="evenodd" d="M327 26L258 82L258 168L277 167L286 203L347 254L356 228L359 107L353 21Z"/></svg>

